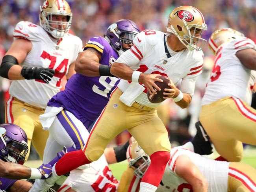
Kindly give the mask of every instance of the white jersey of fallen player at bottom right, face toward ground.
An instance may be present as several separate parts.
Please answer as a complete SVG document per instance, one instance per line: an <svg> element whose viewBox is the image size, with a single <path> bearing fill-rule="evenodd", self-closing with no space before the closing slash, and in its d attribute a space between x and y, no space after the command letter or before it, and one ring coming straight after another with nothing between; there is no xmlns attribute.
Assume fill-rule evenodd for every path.
<svg viewBox="0 0 256 192"><path fill-rule="evenodd" d="M162 185L158 186L157 192L191 191L192 186L176 174L176 159L179 155L187 155L197 166L208 182L209 192L226 192L228 190L229 162L214 161L186 149L172 148L171 159L165 168Z"/></svg>

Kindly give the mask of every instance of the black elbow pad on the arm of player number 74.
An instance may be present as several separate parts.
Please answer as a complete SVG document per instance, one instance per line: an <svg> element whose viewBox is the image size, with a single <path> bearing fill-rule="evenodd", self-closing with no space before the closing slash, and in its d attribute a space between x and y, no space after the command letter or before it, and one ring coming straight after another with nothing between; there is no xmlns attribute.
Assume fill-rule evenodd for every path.
<svg viewBox="0 0 256 192"><path fill-rule="evenodd" d="M12 55L5 55L0 66L0 76L8 78L8 72L13 65L18 65L18 60Z"/></svg>

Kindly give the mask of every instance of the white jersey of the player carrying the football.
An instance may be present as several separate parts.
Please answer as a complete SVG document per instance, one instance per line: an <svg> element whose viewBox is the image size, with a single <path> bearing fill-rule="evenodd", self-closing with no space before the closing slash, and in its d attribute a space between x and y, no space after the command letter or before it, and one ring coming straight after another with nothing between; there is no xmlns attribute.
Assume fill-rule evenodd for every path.
<svg viewBox="0 0 256 192"><path fill-rule="evenodd" d="M145 74L161 74L168 76L174 84L182 79L180 90L193 96L195 80L202 72L203 52L182 50L172 55L168 51L166 38L168 34L155 30L144 30L134 38L132 48L124 52L117 60L132 70ZM118 87L123 92L129 87L130 81L121 79ZM160 103L151 103L144 90L135 102L148 107L156 107Z"/></svg>

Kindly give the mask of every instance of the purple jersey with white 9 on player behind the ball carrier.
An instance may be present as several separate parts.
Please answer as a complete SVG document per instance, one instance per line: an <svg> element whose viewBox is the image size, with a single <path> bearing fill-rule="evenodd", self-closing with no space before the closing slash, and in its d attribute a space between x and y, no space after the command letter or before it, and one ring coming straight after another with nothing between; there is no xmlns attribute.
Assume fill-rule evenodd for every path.
<svg viewBox="0 0 256 192"><path fill-rule="evenodd" d="M119 57L117 52L103 37L91 37L84 50L92 47L101 53L100 64L112 65ZM63 107L73 113L88 129L108 103L111 92L117 87L115 77L88 77L74 74L65 86L48 102L48 106Z"/></svg>

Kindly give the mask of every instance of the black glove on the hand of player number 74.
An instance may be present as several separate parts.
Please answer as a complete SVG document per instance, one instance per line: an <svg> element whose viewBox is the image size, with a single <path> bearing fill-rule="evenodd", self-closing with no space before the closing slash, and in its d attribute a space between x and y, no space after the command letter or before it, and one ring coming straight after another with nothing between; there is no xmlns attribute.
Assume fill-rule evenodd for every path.
<svg viewBox="0 0 256 192"><path fill-rule="evenodd" d="M24 66L21 70L21 75L25 79L40 79L45 83L49 83L54 76L54 70L49 68L37 68Z"/></svg>

